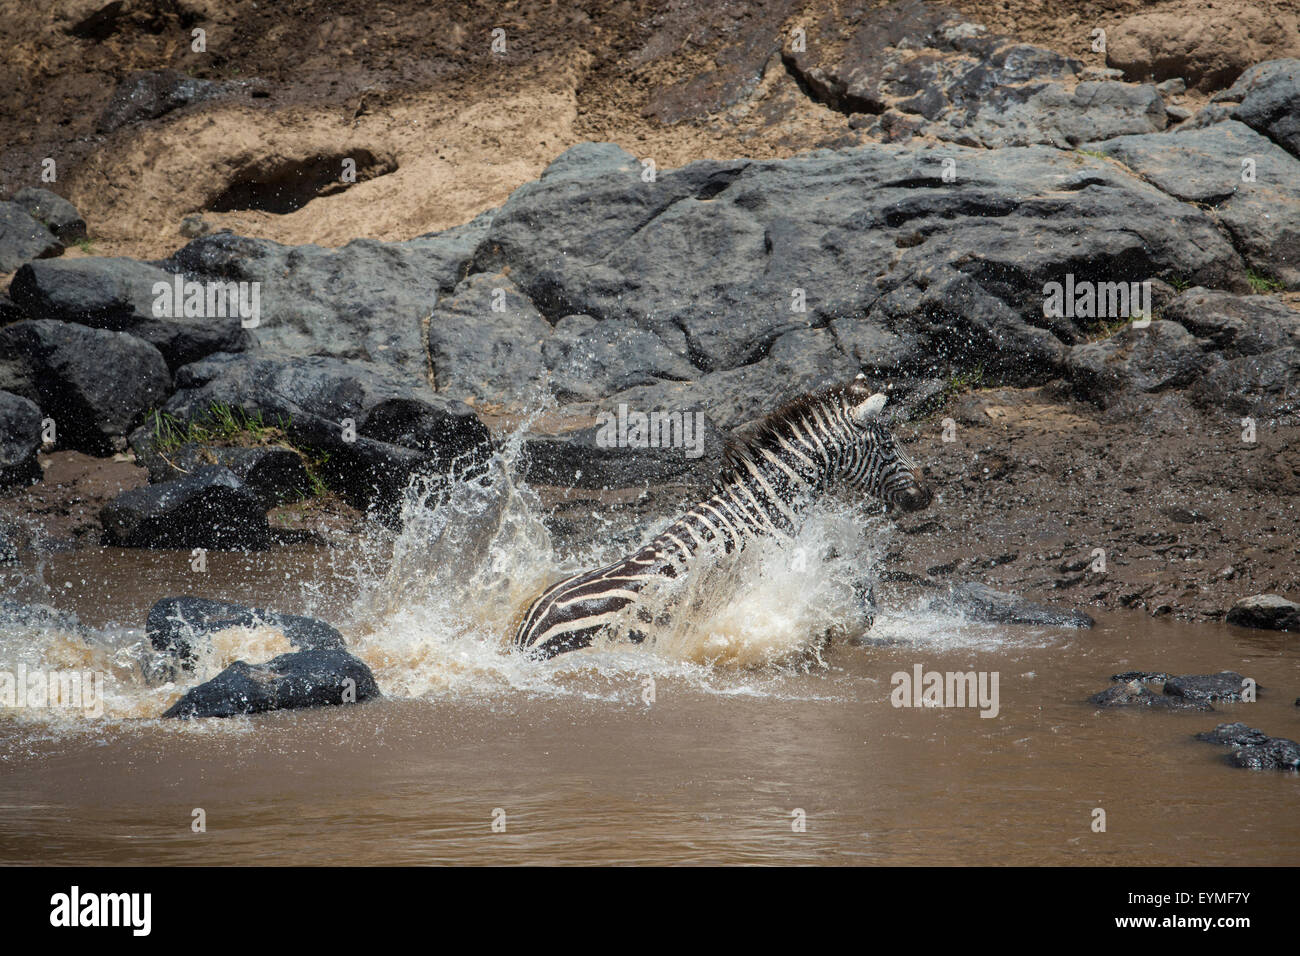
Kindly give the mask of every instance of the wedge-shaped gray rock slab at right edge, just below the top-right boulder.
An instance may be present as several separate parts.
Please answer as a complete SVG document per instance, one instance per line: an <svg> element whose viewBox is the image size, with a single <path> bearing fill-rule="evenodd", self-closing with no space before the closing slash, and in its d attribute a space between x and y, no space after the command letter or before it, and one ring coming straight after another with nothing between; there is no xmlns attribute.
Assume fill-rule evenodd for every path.
<svg viewBox="0 0 1300 956"><path fill-rule="evenodd" d="M1096 143L1171 196L1204 203L1257 269L1300 289L1300 160L1240 122ZM1243 179L1253 161L1253 181Z"/></svg>

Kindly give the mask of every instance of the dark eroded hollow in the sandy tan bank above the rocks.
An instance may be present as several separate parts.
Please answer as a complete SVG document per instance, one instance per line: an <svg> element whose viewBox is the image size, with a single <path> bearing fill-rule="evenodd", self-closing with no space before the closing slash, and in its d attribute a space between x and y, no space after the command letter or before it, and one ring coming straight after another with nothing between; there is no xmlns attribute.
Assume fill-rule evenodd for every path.
<svg viewBox="0 0 1300 956"><path fill-rule="evenodd" d="M398 163L391 156L376 156L368 150L282 160L237 173L208 203L208 211L261 209L285 215L303 208L317 196L342 193L359 182L387 176L396 168Z"/></svg>

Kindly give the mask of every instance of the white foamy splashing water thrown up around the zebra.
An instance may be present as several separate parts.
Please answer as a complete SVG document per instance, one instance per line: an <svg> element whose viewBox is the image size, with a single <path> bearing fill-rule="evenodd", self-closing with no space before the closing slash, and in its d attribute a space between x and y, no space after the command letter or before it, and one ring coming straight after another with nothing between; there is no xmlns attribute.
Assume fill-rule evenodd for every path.
<svg viewBox="0 0 1300 956"><path fill-rule="evenodd" d="M389 697L493 696L502 692L633 700L647 676L682 679L710 693L783 693L792 670L824 667L828 637L863 627L862 593L889 524L864 516L861 502L827 499L807 512L793 541L759 538L731 555L697 561L689 575L654 583L640 606L653 627L628 620L592 648L537 662L514 653L519 615L550 583L619 557L589 544L558 554L540 496L515 477L524 437L543 403L499 444L472 477L421 477L406 489L400 531L350 542L342 588L355 597L332 617L350 650L365 661ZM680 502L681 510L690 502ZM659 527L675 515L663 515ZM599 515L593 523L606 522ZM659 528L650 531L653 535ZM604 541L616 535L604 536ZM299 585L296 606L311 614L338 594L320 580ZM162 597L159 594L157 597ZM933 620L933 615L930 618ZM890 630L924 640L924 626L900 618ZM633 626L644 643L629 641ZM945 628L950 630L950 628ZM875 631L880 631L878 623ZM273 627L230 628L196 641L199 661L177 683L147 679L160 661L139 628L88 631L65 623L0 624L0 671L95 670L104 675L103 715L157 717L186 689L235 659L257 663L291 648ZM84 719L84 713L12 710L0 721Z"/></svg>

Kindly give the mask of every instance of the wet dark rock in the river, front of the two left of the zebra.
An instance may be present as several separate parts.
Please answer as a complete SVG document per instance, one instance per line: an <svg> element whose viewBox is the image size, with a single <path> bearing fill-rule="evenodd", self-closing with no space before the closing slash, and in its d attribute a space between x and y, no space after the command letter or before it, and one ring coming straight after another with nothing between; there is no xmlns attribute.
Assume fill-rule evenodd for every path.
<svg viewBox="0 0 1300 956"><path fill-rule="evenodd" d="M299 650L257 665L235 661L212 680L187 691L162 717L237 717L337 706L378 696L370 669L346 650Z"/></svg>

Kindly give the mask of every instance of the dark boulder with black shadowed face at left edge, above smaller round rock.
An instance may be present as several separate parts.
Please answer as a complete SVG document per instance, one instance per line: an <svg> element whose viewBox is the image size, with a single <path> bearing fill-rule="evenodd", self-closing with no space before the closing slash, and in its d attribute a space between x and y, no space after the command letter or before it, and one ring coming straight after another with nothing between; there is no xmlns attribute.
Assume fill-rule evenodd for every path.
<svg viewBox="0 0 1300 956"><path fill-rule="evenodd" d="M124 332L48 319L0 329L0 355L26 369L34 398L55 419L64 447L109 454L146 411L161 406L172 376L161 352Z"/></svg>

